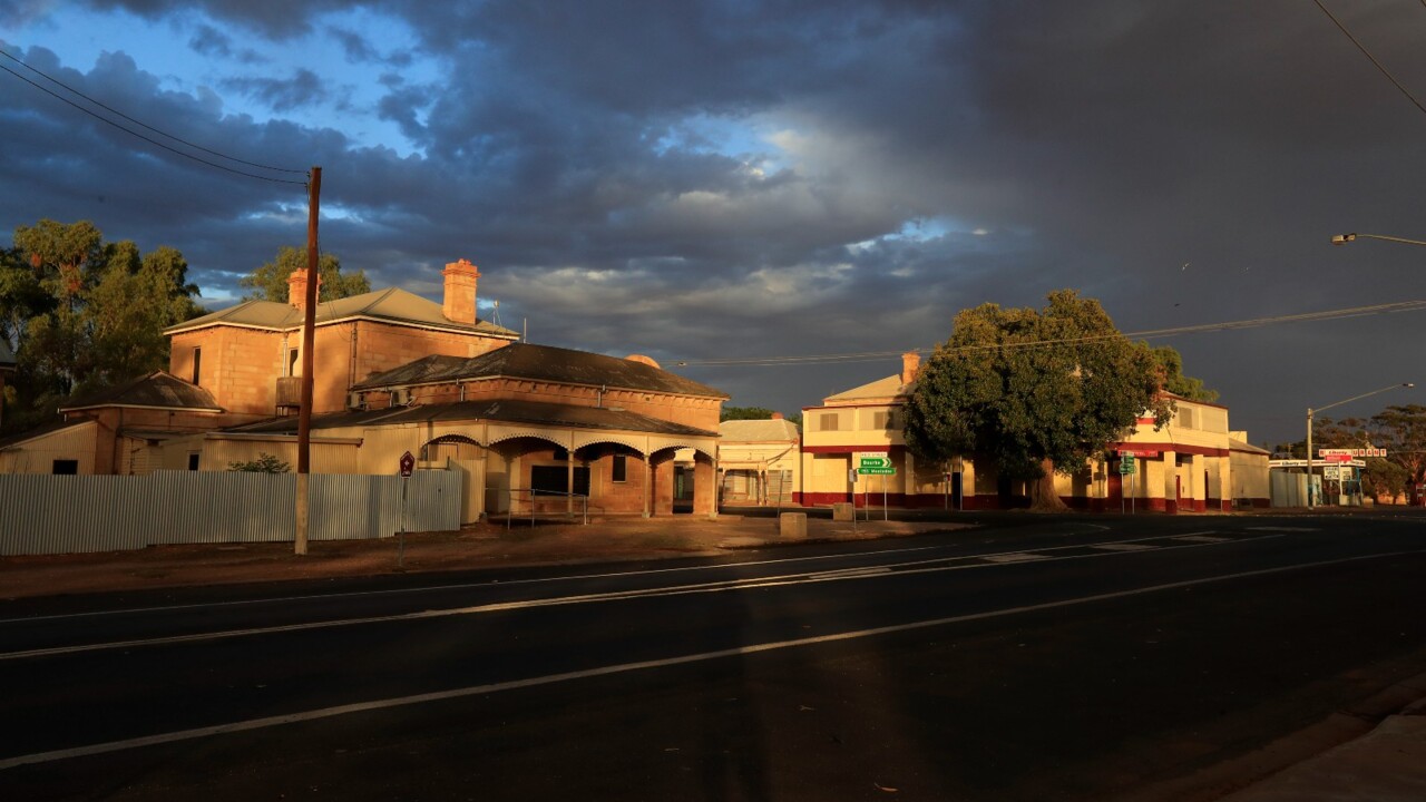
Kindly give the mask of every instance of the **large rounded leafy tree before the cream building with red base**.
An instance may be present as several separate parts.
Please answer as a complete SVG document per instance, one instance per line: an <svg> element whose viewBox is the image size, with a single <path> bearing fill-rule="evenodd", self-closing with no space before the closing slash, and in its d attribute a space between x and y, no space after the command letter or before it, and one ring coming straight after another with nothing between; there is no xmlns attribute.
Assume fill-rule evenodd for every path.
<svg viewBox="0 0 1426 802"><path fill-rule="evenodd" d="M983 304L955 315L951 337L917 374L907 447L923 460L965 455L1034 479L1034 505L1062 508L1057 471L1084 471L1145 411L1168 421L1162 377L1148 345L1127 340L1098 301L1072 290L1051 293L1042 310Z"/></svg>

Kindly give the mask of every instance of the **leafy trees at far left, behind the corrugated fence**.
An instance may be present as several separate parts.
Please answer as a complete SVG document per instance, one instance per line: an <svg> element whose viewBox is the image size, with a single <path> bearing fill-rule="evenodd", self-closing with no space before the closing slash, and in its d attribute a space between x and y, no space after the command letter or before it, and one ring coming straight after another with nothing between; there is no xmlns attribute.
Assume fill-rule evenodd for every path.
<svg viewBox="0 0 1426 802"><path fill-rule="evenodd" d="M90 221L41 220L0 255L0 335L16 352L4 427L44 422L73 394L168 365L163 330L201 310L174 248L104 243Z"/></svg>

